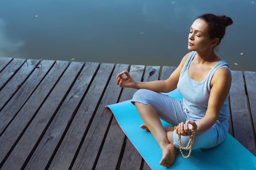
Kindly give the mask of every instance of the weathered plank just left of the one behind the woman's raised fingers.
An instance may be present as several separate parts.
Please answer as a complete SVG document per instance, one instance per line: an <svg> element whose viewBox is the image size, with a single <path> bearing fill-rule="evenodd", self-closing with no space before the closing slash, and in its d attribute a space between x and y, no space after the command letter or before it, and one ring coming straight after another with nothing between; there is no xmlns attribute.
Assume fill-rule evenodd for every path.
<svg viewBox="0 0 256 170"><path fill-rule="evenodd" d="M85 95L63 141L53 158L49 169L68 169L88 133L90 124L110 79L114 64L102 63L92 84ZM65 157L65 159L63 159Z"/></svg>

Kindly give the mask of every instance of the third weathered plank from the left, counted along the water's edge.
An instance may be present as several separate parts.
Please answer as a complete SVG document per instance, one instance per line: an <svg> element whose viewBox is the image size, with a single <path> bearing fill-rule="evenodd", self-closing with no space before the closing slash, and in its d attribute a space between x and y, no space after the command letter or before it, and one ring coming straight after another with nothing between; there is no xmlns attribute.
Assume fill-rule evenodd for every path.
<svg viewBox="0 0 256 170"><path fill-rule="evenodd" d="M39 60L27 60L18 72L9 80L9 82L0 91L0 110L6 102L13 96L20 86L27 79L29 74L36 68Z"/></svg>

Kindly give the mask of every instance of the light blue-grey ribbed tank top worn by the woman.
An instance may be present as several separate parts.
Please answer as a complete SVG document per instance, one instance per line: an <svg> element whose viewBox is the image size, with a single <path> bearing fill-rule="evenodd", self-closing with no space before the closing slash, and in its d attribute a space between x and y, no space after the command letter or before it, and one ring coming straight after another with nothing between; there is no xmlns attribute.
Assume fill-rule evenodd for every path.
<svg viewBox="0 0 256 170"><path fill-rule="evenodd" d="M214 72L218 68L227 67L229 68L226 61L221 60L216 63L213 68L209 71L207 76L204 78L203 81L195 81L193 80L189 74L189 65L193 60L196 52L193 51L189 55L186 63L184 64L181 72L179 82L177 84L177 90L183 96L182 102L184 109L189 114L190 118L195 120L201 119L205 116L208 100L211 92L210 82L211 78L213 77ZM227 97L228 98L228 97ZM224 120L229 118L229 107L227 98L220 110L218 120Z"/></svg>

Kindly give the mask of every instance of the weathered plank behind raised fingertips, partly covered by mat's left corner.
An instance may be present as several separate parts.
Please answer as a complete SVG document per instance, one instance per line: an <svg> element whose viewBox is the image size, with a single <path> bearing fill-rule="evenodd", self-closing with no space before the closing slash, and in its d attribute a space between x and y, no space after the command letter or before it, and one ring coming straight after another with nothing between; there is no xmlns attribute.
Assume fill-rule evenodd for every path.
<svg viewBox="0 0 256 170"><path fill-rule="evenodd" d="M105 109L106 105L116 103L118 101L121 88L116 85L116 76L123 70L128 70L129 65L117 64L112 73L108 87L106 88L101 103L95 114L95 117L90 125L90 129L83 141L80 151L76 157L73 170L76 169L94 169L95 161L97 163L97 156L101 151L102 143L104 142L106 129L110 126L112 120L112 113Z"/></svg>

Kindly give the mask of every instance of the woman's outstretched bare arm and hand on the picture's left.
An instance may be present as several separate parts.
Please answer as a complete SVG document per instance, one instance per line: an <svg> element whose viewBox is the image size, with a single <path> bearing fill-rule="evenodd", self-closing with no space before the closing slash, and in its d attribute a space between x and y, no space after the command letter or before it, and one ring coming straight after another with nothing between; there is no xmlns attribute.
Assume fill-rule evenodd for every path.
<svg viewBox="0 0 256 170"><path fill-rule="evenodd" d="M136 82L132 79L130 74L127 71L123 71L117 75L117 85L120 87L130 87L135 89L150 89L155 92L171 92L177 88L177 83L179 81L180 72L186 59L189 57L189 54L186 54L180 65L175 69L171 76L167 80L158 80L151 82ZM123 77L123 74L126 76Z"/></svg>

